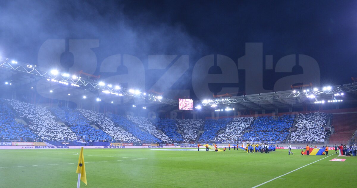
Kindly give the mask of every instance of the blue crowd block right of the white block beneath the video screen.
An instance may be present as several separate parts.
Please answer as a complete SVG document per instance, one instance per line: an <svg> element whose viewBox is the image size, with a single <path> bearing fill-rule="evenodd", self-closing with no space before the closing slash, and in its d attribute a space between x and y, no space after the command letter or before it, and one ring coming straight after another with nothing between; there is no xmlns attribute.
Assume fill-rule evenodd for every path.
<svg viewBox="0 0 357 188"><path fill-rule="evenodd" d="M213 141L217 134L223 130L227 123L231 121L232 118L225 119L207 119L205 125L203 126L203 134L198 138L198 142L207 143Z"/></svg>

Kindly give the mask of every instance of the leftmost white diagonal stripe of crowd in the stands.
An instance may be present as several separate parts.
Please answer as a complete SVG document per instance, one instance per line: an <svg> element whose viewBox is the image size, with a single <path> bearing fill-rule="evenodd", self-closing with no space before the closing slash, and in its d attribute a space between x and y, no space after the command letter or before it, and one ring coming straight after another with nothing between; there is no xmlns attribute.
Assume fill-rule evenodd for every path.
<svg viewBox="0 0 357 188"><path fill-rule="evenodd" d="M59 125L46 107L34 106L18 100L8 100L21 119L28 122L32 132L42 141L75 141L77 136L68 127Z"/></svg>

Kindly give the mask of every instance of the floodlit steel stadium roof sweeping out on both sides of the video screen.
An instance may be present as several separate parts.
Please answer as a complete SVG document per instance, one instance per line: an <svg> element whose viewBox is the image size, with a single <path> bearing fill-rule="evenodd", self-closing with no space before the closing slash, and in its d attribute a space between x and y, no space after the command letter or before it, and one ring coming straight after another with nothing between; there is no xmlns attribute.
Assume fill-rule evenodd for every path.
<svg viewBox="0 0 357 188"><path fill-rule="evenodd" d="M26 63L13 63L9 62L8 59L0 58L0 71L4 73L0 74L1 79L13 79L17 82L21 82L20 85L29 85L32 82L36 82L41 78L47 79L55 79L57 81L66 82L69 84L76 84L79 86L85 86L84 88L90 88L90 90L98 90L105 93L111 93L113 95L125 95L129 97L141 98L147 101L158 102L161 104L178 106L177 100L172 100L169 98L161 98L154 95L144 95L144 93L136 93L132 92L127 88L117 88L117 87L109 87L108 85L101 85L99 81L91 79L91 77L83 76L79 78L72 78L62 76L60 73L54 75L51 71L46 70L45 68L39 66L29 67ZM10 76L8 72L12 72ZM5 75L7 73L7 75ZM48 89L51 85L50 82L42 89ZM60 87L60 86L55 86ZM66 90L62 89L61 94L64 94ZM227 105L231 105L231 107L235 107L237 109L246 109L246 110L266 110L266 109L278 109L278 108L292 108L299 107L305 104L313 104L315 101L325 100L333 100L334 94L336 93L351 93L351 95L343 96L343 101L350 101L357 103L357 83L350 83L345 85L333 86L331 88L309 88L309 89L295 89L287 90L287 91L277 91L270 93L260 93L260 94L252 94L252 95L243 95L243 96L227 96L219 98L214 98L211 100L203 100L203 101L195 101L196 105L199 104L201 106L212 106L217 105L217 108L227 107ZM195 106L196 106L195 105ZM169 108L168 108L169 109ZM172 109L172 108L170 108Z"/></svg>

